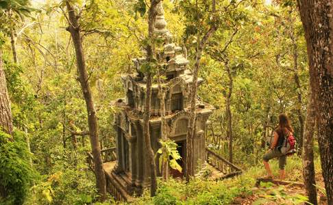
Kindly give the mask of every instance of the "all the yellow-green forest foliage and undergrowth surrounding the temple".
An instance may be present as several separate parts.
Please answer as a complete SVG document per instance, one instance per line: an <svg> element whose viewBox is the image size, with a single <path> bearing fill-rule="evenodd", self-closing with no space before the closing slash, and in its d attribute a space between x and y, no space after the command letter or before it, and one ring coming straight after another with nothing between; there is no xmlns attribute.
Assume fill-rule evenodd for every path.
<svg viewBox="0 0 333 205"><path fill-rule="evenodd" d="M95 178L85 161L86 152L90 150L89 139L77 136L78 148L75 149L69 131L69 122L73 122L75 131L86 131L88 126L82 90L77 81L75 50L69 40L69 33L64 29L68 26L66 17L60 10L66 8L64 1L45 2L42 12L36 14L31 13L27 0L0 0L0 46L14 126L27 128L34 153L34 167L42 175L34 181L35 186L28 190L32 185L32 177L21 176L25 172L18 171L19 167L23 167L19 170L29 169L28 153L16 154L20 157L22 155L20 159L24 158L24 161L16 157L1 164L16 171L9 173L8 169L1 167L0 176L5 173L8 175L6 180L19 185L21 183L21 186L13 188L15 196L6 199L6 203L14 203L16 193L18 195L21 190L27 197L20 195L20 203L25 200L26 204L93 204L97 203ZM197 54L198 35L202 38L212 24L219 24L218 31L208 41L200 61L199 75L204 83L201 83L198 90L199 100L216 108L210 117L212 124L207 129L206 139L208 146L227 157L227 59L234 80L231 97L234 163L247 172L240 178L222 182L211 182L206 178L192 180L189 184L174 179L160 182L158 195L153 198L145 195L138 199L138 204L230 204L234 197L251 193L254 178L265 174L259 165L265 151L260 148L264 124L275 126L277 114L285 112L291 118L295 135L301 136L297 110L301 109L303 116L306 113L308 65L304 31L295 5L288 0L282 1L282 5L263 5L261 1L241 1L239 5L239 1L234 0L217 1L217 15L210 18L212 0L197 2L198 5L195 0L164 1L167 28L173 34L173 42L186 46L190 59L190 66L187 68L192 70ZM125 95L119 80L121 74L134 71L134 66L130 65L133 57L143 56L140 49L154 44L158 52L162 51L164 45L158 38L145 37L146 1L75 0L71 3L80 14L79 24L84 40L89 83L99 120L101 146L113 147L115 133L112 122L115 109L111 102ZM14 18L8 18L8 8L14 10ZM35 18L22 20L20 15ZM36 22L33 23L32 20ZM10 28L20 31L16 36L20 64L13 64L11 60L10 40L6 39ZM223 50L235 31L232 42ZM295 61L291 33L296 38L300 89L295 86L292 71ZM140 71L154 74L158 66L163 65L152 59L151 62L142 64ZM162 74L166 69L166 66L161 69ZM301 103L297 102L298 92L303 98ZM14 146L16 143L22 144ZM314 153L317 156L319 148L317 141L314 143ZM5 159L2 157L2 148L8 148L9 145L12 145L13 153L27 146L23 141L17 140L8 141L7 145L1 143L0 160ZM167 151L164 152L163 149ZM162 148L158 152L161 154L160 160L168 160L171 167L181 169L176 163L180 157L176 151L175 143L169 141L162 142ZM288 157L286 172L293 174L293 180L301 180L300 160L297 156ZM277 175L277 162L273 161L271 165L273 174ZM319 162L316 161L316 170L320 172L320 169ZM205 176L210 174L208 171L204 172ZM12 173L20 177L10 175ZM269 196L260 198L256 204L277 198L296 204L306 200L302 195L287 199L288 195L272 184L262 184L262 187L271 190L272 194L264 193ZM110 200L110 203L114 202Z"/></svg>

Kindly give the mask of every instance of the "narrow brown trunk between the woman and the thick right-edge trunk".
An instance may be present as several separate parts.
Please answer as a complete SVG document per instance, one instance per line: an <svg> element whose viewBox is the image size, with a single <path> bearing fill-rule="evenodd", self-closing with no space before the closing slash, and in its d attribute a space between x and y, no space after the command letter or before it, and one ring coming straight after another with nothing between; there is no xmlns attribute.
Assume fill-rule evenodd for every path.
<svg viewBox="0 0 333 205"><path fill-rule="evenodd" d="M311 89L310 89L311 90ZM303 139L303 178L306 187L306 193L311 204L317 204L317 189L314 186L314 162L313 162L313 134L314 134L314 98L312 92L308 96L308 109L306 111L306 126Z"/></svg>

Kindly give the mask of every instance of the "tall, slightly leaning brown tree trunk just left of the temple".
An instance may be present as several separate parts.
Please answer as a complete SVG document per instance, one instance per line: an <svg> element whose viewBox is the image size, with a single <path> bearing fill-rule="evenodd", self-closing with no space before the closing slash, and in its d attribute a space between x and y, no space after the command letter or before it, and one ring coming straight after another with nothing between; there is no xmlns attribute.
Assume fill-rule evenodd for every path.
<svg viewBox="0 0 333 205"><path fill-rule="evenodd" d="M69 32L73 39L75 47L75 55L77 62L77 70L79 72L79 82L82 87L84 100L86 101L86 109L88 112L88 126L90 135L90 144L93 150L96 185L100 200L103 202L106 199L106 178L103 170L103 161L101 159L101 149L99 146L98 124L95 111L95 105L93 102L93 96L91 94L90 86L88 84L88 73L86 71L86 64L84 61L84 50L82 47L82 38L79 30L79 16L75 14L73 6L66 1L66 7L69 14Z"/></svg>

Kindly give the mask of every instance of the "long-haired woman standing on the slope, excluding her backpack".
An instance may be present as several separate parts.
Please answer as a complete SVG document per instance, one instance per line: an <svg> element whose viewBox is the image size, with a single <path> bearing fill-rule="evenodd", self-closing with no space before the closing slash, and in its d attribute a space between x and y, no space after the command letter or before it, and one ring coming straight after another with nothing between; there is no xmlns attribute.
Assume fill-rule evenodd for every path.
<svg viewBox="0 0 333 205"><path fill-rule="evenodd" d="M273 142L270 145L270 148L266 154L262 157L264 160L264 168L267 171L267 178L273 178L271 168L269 167L269 160L273 158L279 159L279 168L280 168L280 180L284 180L286 173L284 172L284 167L286 166L286 155L281 153L281 146L284 141L284 136L288 136L288 133L293 133L294 130L291 127L291 124L288 120L288 117L285 114L279 115L279 125L274 131Z"/></svg>

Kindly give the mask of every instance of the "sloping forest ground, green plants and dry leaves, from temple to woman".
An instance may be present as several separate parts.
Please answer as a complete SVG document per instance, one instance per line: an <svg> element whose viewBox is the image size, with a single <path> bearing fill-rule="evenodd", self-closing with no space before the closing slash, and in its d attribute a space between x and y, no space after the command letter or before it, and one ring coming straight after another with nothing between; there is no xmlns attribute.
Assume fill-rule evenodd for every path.
<svg viewBox="0 0 333 205"><path fill-rule="evenodd" d="M272 160L270 165L275 176L272 181L262 180L257 183L258 178L267 174L262 164L251 167L245 165L242 167L243 174L225 180L197 178L186 183L170 178L167 182L160 182L160 190L155 197L149 197L147 189L134 204L309 204L303 184L301 158L295 154L288 157L286 180L282 182L285 185L277 179L278 161ZM326 204L321 164L317 157L314 167L318 202Z"/></svg>

